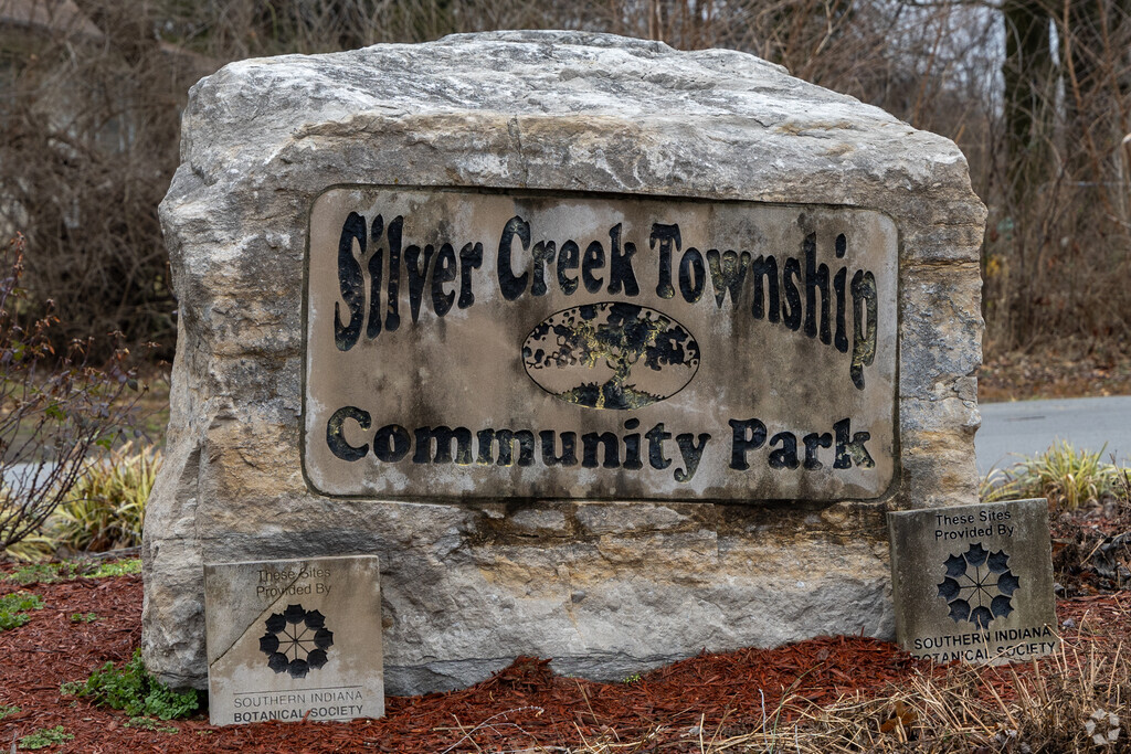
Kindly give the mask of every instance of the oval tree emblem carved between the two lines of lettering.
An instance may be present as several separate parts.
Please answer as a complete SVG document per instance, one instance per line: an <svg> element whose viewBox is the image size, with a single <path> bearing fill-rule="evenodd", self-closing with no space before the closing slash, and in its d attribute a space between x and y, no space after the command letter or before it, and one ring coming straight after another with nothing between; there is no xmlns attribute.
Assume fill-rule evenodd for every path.
<svg viewBox="0 0 1131 754"><path fill-rule="evenodd" d="M699 344L655 309L602 302L547 317L523 344L523 364L568 404L630 410L687 387L699 369Z"/></svg>

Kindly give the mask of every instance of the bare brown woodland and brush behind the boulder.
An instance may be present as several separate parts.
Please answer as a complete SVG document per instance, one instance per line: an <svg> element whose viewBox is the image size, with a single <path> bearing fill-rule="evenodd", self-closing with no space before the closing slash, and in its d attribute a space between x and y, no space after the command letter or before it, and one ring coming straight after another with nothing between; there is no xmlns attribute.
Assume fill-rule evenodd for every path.
<svg viewBox="0 0 1131 754"><path fill-rule="evenodd" d="M189 87L248 57L578 28L731 47L955 139L987 357L1124 354L1131 0L0 0L0 235L60 339L175 346L156 207Z"/></svg>

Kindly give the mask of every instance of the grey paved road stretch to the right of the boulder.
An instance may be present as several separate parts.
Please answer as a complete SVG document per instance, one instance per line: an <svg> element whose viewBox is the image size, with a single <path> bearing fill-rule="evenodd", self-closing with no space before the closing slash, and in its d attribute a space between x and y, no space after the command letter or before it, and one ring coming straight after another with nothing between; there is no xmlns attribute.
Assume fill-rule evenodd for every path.
<svg viewBox="0 0 1131 754"><path fill-rule="evenodd" d="M978 473L1007 467L1017 458L1034 456L1057 440L1076 448L1108 453L1131 466L1131 396L1022 400L982 404L982 428L974 439Z"/></svg>

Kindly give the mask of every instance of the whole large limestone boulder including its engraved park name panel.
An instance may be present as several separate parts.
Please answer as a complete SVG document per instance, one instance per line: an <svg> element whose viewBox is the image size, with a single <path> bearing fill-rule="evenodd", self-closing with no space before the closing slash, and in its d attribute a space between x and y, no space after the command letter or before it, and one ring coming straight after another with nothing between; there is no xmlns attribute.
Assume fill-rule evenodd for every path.
<svg viewBox="0 0 1131 754"><path fill-rule="evenodd" d="M234 62L182 135L167 684L207 683L206 562L380 556L395 694L891 638L886 512L977 501L985 207L942 137L585 32Z"/></svg>

